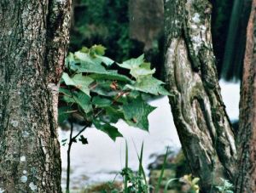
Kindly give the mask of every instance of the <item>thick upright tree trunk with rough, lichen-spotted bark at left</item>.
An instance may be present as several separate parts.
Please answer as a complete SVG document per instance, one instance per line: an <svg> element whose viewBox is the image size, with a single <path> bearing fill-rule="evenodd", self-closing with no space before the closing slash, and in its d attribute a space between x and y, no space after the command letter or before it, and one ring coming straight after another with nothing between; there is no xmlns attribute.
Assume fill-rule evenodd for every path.
<svg viewBox="0 0 256 193"><path fill-rule="evenodd" d="M61 192L57 82L70 4L0 1L0 192Z"/></svg>

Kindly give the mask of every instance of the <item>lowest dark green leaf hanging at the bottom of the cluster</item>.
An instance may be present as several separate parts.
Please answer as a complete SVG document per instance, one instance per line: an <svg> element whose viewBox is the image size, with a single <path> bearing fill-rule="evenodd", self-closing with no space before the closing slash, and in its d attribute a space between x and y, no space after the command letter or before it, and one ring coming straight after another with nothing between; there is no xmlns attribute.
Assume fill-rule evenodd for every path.
<svg viewBox="0 0 256 193"><path fill-rule="evenodd" d="M113 141L115 141L117 137L123 137L123 135L119 133L119 130L117 128L113 127L108 123L100 122L99 120L94 119L93 124L97 129L101 130L104 133L107 133L108 136L113 139Z"/></svg>

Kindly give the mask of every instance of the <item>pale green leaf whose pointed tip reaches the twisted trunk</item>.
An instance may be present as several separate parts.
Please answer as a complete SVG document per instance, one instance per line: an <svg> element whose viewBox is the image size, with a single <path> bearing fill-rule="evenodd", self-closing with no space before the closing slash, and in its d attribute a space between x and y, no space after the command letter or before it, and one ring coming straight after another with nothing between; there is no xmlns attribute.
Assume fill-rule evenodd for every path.
<svg viewBox="0 0 256 193"><path fill-rule="evenodd" d="M140 81L135 82L133 85L127 84L126 87L132 90L141 91L148 94L154 95L169 95L170 93L161 86L164 82L154 77L143 77Z"/></svg>

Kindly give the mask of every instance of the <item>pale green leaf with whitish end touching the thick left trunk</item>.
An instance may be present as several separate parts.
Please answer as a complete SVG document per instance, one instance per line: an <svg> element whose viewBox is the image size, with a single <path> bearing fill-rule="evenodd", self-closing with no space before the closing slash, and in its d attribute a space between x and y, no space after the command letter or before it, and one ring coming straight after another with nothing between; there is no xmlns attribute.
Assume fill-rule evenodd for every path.
<svg viewBox="0 0 256 193"><path fill-rule="evenodd" d="M68 86L74 86L79 88L84 94L90 96L90 88L89 85L94 80L90 77L83 76L82 73L76 74L74 77L69 77L66 72L63 73L62 79Z"/></svg>

